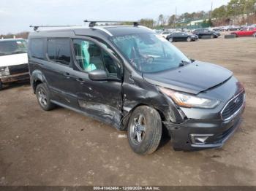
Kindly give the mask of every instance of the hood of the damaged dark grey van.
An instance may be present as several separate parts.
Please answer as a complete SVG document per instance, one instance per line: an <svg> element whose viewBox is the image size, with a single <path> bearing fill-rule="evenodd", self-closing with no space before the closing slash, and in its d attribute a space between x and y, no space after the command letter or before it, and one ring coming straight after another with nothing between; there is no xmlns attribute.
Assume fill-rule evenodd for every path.
<svg viewBox="0 0 256 191"><path fill-rule="evenodd" d="M177 69L143 74L146 82L172 90L198 94L232 77L232 71L212 63L195 61Z"/></svg>

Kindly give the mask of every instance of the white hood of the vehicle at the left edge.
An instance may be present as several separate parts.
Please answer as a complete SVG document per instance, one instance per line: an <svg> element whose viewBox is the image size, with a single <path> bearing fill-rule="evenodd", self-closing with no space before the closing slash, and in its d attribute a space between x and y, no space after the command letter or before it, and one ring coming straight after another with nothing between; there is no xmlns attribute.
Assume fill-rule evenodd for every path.
<svg viewBox="0 0 256 191"><path fill-rule="evenodd" d="M1 55L0 56L0 67L1 66L14 66L23 63L28 63L28 54L21 53L15 55Z"/></svg>

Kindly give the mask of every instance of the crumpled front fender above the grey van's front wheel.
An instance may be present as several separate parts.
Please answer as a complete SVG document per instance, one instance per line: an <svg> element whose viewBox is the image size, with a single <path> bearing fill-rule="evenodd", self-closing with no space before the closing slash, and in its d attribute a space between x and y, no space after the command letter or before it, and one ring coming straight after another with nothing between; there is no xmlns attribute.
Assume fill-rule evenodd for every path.
<svg viewBox="0 0 256 191"><path fill-rule="evenodd" d="M176 105L166 95L159 93L156 86L146 83L143 78L136 75L125 74L123 89L123 115L122 125L127 125L129 114L140 105L151 106L157 109L162 120L167 122L184 122L183 112L176 109Z"/></svg>

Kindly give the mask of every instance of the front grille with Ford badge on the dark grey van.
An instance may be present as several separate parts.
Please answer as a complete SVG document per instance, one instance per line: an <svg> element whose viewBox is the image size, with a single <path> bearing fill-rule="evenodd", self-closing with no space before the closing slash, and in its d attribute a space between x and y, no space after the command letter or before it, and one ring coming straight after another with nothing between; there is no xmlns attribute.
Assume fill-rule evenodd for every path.
<svg viewBox="0 0 256 191"><path fill-rule="evenodd" d="M226 106L222 110L222 119L229 120L231 117L233 117L233 115L236 114L239 109L241 109L243 103L244 92L236 95L236 97L232 98L229 102L227 102Z"/></svg>

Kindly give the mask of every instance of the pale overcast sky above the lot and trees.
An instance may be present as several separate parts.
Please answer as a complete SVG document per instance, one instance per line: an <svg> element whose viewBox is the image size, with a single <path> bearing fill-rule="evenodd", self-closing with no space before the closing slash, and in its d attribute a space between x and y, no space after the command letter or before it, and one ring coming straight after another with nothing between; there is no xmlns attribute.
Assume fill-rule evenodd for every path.
<svg viewBox="0 0 256 191"><path fill-rule="evenodd" d="M0 0L0 34L30 25L83 25L83 20L140 20L208 11L229 0Z"/></svg>

